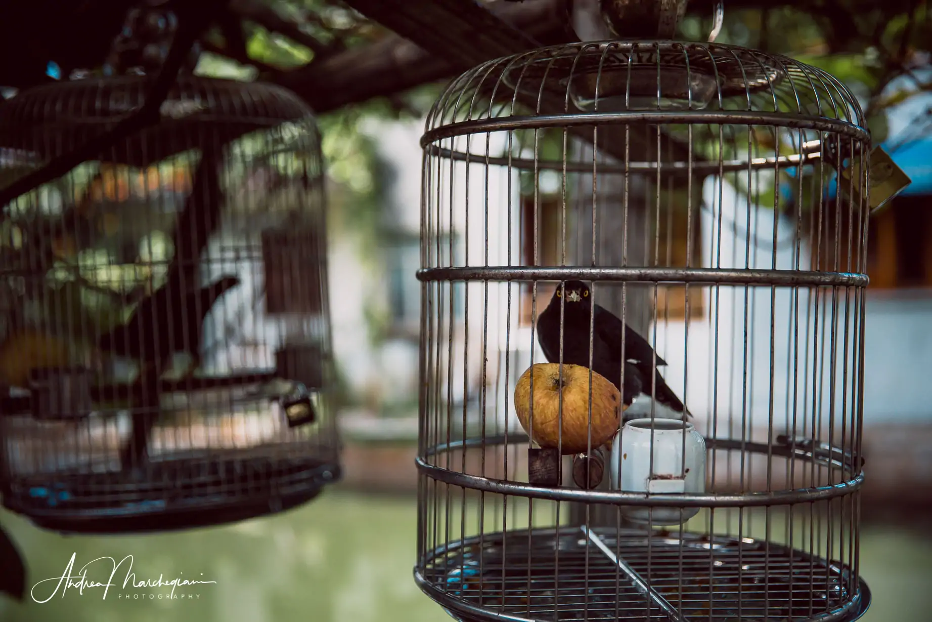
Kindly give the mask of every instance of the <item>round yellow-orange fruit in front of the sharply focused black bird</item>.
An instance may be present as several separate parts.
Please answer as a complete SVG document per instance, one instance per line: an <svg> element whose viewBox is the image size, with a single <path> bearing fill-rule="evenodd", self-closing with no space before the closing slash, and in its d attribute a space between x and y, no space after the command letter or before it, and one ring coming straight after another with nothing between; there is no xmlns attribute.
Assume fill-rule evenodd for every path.
<svg viewBox="0 0 932 622"><path fill-rule="evenodd" d="M531 377L533 376L533 396ZM560 401L563 424L560 425ZM533 428L531 405L533 402ZM563 454L589 448L589 369L563 366L562 384L557 363L538 363L518 379L514 387L514 409L525 432L542 448L559 448ZM624 410L622 395L604 376L592 372L592 448L596 449L618 432Z"/></svg>

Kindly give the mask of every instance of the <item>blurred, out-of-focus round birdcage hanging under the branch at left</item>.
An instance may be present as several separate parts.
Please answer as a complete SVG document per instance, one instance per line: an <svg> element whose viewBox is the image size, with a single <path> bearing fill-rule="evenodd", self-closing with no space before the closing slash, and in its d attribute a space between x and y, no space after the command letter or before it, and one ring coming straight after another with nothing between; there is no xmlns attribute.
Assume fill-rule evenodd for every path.
<svg viewBox="0 0 932 622"><path fill-rule="evenodd" d="M0 107L0 175L113 128L152 77ZM281 511L339 477L315 118L181 76L158 123L3 205L3 503L66 532Z"/></svg>

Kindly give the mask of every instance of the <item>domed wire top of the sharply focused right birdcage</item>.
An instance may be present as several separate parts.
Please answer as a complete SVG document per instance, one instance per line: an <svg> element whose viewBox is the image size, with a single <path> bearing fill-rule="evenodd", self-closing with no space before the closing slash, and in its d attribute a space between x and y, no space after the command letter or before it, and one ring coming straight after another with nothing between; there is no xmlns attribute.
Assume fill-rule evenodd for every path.
<svg viewBox="0 0 932 622"><path fill-rule="evenodd" d="M638 41L540 48L479 65L453 80L434 104L423 144L434 145L429 152L442 154L441 139L478 131L571 127L591 134L596 124L656 123L665 124L672 140L699 147L692 161L674 161L673 151L665 148L658 158L656 144L648 145L653 147L648 159L632 159L624 149L624 133L597 137L599 146L632 171L670 161L678 170L711 173L747 169L749 164L773 168L774 152L764 143L755 145L749 157L739 158L741 147L748 148L747 134L699 131L695 126L701 123L797 130L795 140L781 145L779 166L813 158L819 149L813 142L818 131L837 134L836 144L830 145L833 151L851 147L850 142L841 145L844 138L868 136L857 100L816 67L728 45ZM476 153L476 143L470 149L454 149L460 152L454 158ZM706 143L714 147L704 152ZM539 158L536 166L547 168L545 160ZM555 160L549 165L562 168L562 159ZM516 168L530 165L520 158L508 163Z"/></svg>

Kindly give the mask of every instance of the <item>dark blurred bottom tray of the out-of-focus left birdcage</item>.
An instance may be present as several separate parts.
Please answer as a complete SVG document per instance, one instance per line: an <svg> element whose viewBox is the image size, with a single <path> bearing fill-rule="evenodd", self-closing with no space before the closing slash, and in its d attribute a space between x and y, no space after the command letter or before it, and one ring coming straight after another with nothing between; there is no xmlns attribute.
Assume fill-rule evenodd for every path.
<svg viewBox="0 0 932 622"><path fill-rule="evenodd" d="M339 477L339 464L320 457L216 451L131 471L12 477L3 487L3 505L60 532L171 531L281 512L310 501Z"/></svg>

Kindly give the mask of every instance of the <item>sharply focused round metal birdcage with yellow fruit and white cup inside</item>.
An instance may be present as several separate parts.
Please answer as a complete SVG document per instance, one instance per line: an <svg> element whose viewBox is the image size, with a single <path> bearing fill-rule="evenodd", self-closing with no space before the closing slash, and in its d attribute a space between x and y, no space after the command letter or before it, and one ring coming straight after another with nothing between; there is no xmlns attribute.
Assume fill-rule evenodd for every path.
<svg viewBox="0 0 932 622"><path fill-rule="evenodd" d="M843 84L541 48L453 80L421 145L419 587L462 620L859 617L870 136Z"/></svg>

